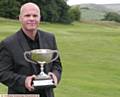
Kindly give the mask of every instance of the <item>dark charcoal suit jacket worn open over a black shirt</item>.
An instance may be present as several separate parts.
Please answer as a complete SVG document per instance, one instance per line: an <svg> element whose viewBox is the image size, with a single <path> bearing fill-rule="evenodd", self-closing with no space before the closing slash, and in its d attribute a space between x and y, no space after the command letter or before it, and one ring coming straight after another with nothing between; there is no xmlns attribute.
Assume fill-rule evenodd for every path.
<svg viewBox="0 0 120 97"><path fill-rule="evenodd" d="M53 34L38 30L38 35L41 49L57 49ZM38 74L40 70L38 65L25 60L24 52L29 50L31 49L21 30L0 43L0 82L8 86L9 94L33 93L25 88L25 78L32 74ZM45 72L53 72L60 81L62 72L60 58L45 65ZM44 91L46 97L53 97L52 88ZM38 91L34 93L39 94Z"/></svg>

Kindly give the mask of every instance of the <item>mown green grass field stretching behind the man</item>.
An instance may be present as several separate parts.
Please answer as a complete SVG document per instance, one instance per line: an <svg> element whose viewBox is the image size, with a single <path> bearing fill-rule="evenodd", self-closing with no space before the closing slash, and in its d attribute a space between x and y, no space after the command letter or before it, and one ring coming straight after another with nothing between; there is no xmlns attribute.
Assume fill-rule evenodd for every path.
<svg viewBox="0 0 120 97"><path fill-rule="evenodd" d="M18 21L0 19L0 40L20 28ZM120 24L41 23L56 35L63 76L56 97L120 97ZM0 93L7 88L0 86Z"/></svg>

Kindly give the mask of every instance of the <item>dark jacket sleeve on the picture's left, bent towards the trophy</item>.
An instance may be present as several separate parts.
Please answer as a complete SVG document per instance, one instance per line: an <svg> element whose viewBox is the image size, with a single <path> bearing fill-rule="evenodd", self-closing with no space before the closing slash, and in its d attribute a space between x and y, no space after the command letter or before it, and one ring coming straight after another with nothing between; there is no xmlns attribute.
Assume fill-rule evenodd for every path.
<svg viewBox="0 0 120 97"><path fill-rule="evenodd" d="M13 71L14 61L9 49L4 42L0 43L0 82L8 87L14 87L16 84L24 86L25 76L19 75Z"/></svg>

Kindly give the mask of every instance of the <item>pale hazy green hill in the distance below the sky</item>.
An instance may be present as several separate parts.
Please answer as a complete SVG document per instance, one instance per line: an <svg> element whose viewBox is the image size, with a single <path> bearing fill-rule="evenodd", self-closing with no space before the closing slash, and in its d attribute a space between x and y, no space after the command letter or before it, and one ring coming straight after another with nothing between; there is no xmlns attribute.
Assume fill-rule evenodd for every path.
<svg viewBox="0 0 120 97"><path fill-rule="evenodd" d="M79 6L81 20L101 20L108 12L120 14L120 4L80 4Z"/></svg>

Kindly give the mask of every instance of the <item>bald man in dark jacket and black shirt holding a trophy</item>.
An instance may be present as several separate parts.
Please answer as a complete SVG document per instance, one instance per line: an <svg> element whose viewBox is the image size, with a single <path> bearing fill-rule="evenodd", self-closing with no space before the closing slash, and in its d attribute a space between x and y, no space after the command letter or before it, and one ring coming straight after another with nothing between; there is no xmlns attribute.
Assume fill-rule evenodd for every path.
<svg viewBox="0 0 120 97"><path fill-rule="evenodd" d="M25 51L56 50L54 35L37 29L40 9L34 3L26 3L21 7L19 21L21 29L0 43L0 82L8 86L9 94L40 94L40 97L54 97L53 88L34 89L32 80L39 74L40 67L24 58ZM45 72L52 76L57 85L62 73L60 58L46 65Z"/></svg>

